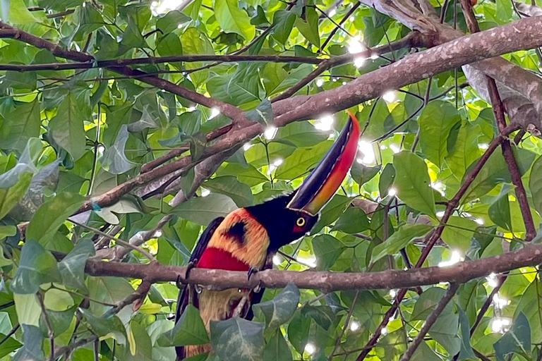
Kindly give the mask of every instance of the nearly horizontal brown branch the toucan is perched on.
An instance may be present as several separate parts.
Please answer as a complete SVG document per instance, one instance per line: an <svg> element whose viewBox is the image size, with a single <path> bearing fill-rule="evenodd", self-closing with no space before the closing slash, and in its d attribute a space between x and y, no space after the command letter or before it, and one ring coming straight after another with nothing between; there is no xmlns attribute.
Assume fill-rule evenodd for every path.
<svg viewBox="0 0 542 361"><path fill-rule="evenodd" d="M88 260L85 271L92 276L116 276L145 279L151 283L180 281L212 286L213 289L284 288L294 283L299 288L331 292L334 290L389 289L427 286L440 282L465 283L471 279L499 274L522 267L535 267L542 263L542 245L527 245L522 250L495 257L454 264L451 267L426 267L367 273L330 271L278 271L269 269L254 274L250 281L246 272L221 269L192 269L184 279L186 267L162 264L131 264Z"/></svg>

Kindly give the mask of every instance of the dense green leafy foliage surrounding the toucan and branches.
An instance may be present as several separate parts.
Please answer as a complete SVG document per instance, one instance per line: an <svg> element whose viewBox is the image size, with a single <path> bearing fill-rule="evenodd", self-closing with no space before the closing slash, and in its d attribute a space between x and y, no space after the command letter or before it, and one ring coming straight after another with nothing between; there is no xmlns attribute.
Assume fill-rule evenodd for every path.
<svg viewBox="0 0 542 361"><path fill-rule="evenodd" d="M450 1L442 20L467 32L455 3ZM478 3L482 30L519 18L510 1ZM439 1L431 4L442 10ZM0 39L0 69L19 67L0 71L0 360L45 360L52 347L50 360L174 360L173 345L209 340L215 348L209 360L356 360L397 296L395 289L327 294L294 284L267 289L265 302L254 307L253 322L219 322L209 338L193 307L173 328L174 282L152 284L145 298L136 300L138 308L119 302L133 295L140 279L85 274L85 262L96 252L119 262L116 253L104 251L119 250L119 239L149 230L143 251L126 252L123 262L145 264L150 256L160 264L184 266L198 235L216 216L294 190L332 145L347 115L314 114L310 121L277 130L270 126L270 99L309 75L315 59L378 46L384 54L382 46L410 32L350 0L194 0L181 11L171 10L180 5L173 0L0 1L6 24L95 59L90 66L61 68L69 62L52 49ZM402 47L342 63L297 94L347 85L410 52L411 47ZM299 59L221 62L224 54ZM179 55L217 57L148 61L131 68L238 106L249 120L267 124L265 133L244 144L232 142L233 151L209 158L201 168L186 167L171 185L160 187L162 180L121 192L113 204L92 204L91 211L68 219L85 200L126 184L143 164L171 149L185 147L193 164L208 157L206 149L214 143L205 135L231 123L218 106L149 85L143 75L119 74L115 63L100 66L106 60ZM505 59L541 74L535 50ZM45 67L25 68L38 64ZM469 87L460 68L390 89L351 110L365 126L359 159L311 234L274 257L277 269L374 272L416 264L424 237L435 231L447 202L498 135L490 104ZM542 141L520 134L512 148L527 211L539 229ZM497 149L459 200L423 267L524 247L526 228L515 188ZM188 200L174 199L179 191ZM540 241L538 236L534 243ZM492 275L462 284L413 359L450 360L459 354L456 360L477 360L474 348L496 360L541 360L540 269L511 270L502 286L501 279ZM490 295L495 286L500 290ZM409 289L367 360L399 360L445 288ZM488 297L493 302L469 335Z"/></svg>

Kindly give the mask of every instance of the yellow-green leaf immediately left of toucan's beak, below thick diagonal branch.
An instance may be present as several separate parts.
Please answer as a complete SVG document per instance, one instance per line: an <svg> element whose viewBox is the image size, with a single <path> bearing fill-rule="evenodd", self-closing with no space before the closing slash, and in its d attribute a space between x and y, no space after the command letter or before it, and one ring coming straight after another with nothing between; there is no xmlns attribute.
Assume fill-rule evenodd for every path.
<svg viewBox="0 0 542 361"><path fill-rule="evenodd" d="M279 179L295 179L308 173L318 165L327 150L333 145L331 141L320 142L314 147L298 148L275 171Z"/></svg>

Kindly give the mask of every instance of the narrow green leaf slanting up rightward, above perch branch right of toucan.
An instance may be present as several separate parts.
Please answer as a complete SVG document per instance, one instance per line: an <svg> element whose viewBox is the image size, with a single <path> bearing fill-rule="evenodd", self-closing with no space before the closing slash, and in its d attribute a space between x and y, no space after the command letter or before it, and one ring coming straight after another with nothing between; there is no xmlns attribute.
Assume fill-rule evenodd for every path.
<svg viewBox="0 0 542 361"><path fill-rule="evenodd" d="M373 248L371 263L375 263L387 255L395 255L411 243L414 238L423 237L433 226L427 224L404 224L390 238Z"/></svg>

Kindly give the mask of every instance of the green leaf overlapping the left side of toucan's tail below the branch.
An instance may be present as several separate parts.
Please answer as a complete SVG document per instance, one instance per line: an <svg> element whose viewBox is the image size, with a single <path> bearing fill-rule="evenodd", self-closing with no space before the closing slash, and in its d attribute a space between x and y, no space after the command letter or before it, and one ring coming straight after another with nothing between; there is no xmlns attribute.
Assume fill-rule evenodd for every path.
<svg viewBox="0 0 542 361"><path fill-rule="evenodd" d="M163 347L209 343L209 336L198 309L193 305L186 306L174 328L160 335L157 343Z"/></svg>

